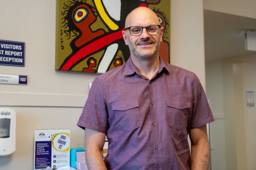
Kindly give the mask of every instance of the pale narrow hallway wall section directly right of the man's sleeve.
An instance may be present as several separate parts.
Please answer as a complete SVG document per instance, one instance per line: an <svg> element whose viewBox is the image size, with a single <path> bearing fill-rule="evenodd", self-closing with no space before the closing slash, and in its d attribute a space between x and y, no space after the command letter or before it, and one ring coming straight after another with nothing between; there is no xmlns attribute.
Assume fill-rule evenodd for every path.
<svg viewBox="0 0 256 170"><path fill-rule="evenodd" d="M212 170L226 169L222 60L205 63L206 95L215 119L210 124Z"/></svg>

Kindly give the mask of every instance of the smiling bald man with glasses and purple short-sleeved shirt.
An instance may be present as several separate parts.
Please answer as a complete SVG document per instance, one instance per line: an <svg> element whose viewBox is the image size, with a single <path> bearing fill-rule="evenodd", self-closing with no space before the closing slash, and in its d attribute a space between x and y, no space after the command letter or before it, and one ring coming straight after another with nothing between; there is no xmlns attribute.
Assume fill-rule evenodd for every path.
<svg viewBox="0 0 256 170"><path fill-rule="evenodd" d="M130 58L96 77L77 123L89 169L208 169L206 124L214 119L199 79L159 57L163 28L151 9L134 9L122 34Z"/></svg>

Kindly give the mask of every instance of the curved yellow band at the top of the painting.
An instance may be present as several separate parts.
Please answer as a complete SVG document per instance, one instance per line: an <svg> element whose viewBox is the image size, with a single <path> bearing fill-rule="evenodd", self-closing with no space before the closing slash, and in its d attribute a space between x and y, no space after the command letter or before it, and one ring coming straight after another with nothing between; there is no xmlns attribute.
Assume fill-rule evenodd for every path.
<svg viewBox="0 0 256 170"><path fill-rule="evenodd" d="M110 29L112 30L117 30L118 29L118 25L116 25L107 15L107 13L105 12L103 5L101 3L101 0L95 0L95 5L96 8L98 9L99 15L101 16L101 18L103 19L103 21L110 27Z"/></svg>

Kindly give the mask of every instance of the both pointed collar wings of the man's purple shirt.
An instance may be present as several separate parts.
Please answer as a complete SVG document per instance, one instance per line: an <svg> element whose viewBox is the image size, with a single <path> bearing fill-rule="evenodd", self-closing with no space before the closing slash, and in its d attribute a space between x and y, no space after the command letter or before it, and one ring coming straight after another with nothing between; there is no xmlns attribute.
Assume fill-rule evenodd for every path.
<svg viewBox="0 0 256 170"><path fill-rule="evenodd" d="M165 68L165 70L170 73L169 68L167 67L167 64L162 60L162 58L159 56L160 58L160 64L159 64L159 69L158 69L158 73L160 73L163 68ZM132 62L131 57L129 57L129 59L126 61L125 63L125 70L124 70L124 75L132 75L134 73L139 73L139 71L137 70L137 68L135 67L135 65Z"/></svg>

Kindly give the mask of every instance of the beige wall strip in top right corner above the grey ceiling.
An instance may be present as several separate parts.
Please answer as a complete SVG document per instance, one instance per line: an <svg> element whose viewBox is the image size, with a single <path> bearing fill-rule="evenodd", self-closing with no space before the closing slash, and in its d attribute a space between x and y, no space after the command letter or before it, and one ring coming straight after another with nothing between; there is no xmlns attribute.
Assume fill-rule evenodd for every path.
<svg viewBox="0 0 256 170"><path fill-rule="evenodd" d="M255 0L203 0L203 9L256 18Z"/></svg>

